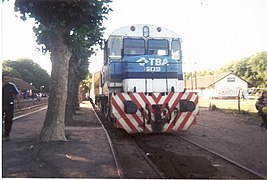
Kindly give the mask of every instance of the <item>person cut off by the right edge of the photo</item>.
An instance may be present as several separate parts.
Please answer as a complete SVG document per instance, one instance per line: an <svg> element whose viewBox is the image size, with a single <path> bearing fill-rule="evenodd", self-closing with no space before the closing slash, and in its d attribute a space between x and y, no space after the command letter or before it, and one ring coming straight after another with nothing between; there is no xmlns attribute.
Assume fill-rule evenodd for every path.
<svg viewBox="0 0 267 180"><path fill-rule="evenodd" d="M262 123L260 124L260 127L265 127L265 130L267 131L267 113L263 110L263 108L267 108L267 91L264 91L262 93L255 106L258 110L259 116L261 116L262 118Z"/></svg>

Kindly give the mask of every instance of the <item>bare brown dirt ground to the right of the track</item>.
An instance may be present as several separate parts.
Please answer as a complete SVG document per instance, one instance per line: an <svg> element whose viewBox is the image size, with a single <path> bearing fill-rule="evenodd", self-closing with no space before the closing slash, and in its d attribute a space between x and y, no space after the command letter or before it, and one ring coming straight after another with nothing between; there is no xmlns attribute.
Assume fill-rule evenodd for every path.
<svg viewBox="0 0 267 180"><path fill-rule="evenodd" d="M201 108L197 125L184 136L267 177L267 132L260 122L256 114Z"/></svg>

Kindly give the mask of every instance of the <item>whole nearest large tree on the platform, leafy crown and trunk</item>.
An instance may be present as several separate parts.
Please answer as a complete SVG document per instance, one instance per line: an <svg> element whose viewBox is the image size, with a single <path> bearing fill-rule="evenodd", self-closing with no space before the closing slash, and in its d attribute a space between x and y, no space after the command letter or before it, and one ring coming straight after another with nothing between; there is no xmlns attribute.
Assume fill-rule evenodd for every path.
<svg viewBox="0 0 267 180"><path fill-rule="evenodd" d="M90 41L94 33L98 36L97 32L104 30L102 22L110 10L109 2L16 0L15 7L22 14L22 19L35 18L37 26L34 31L37 42L42 45L42 51L51 53L51 90L45 122L40 133L41 141L66 140L65 107L69 61L73 54L77 55L75 49L79 51L84 40ZM80 42L80 39L83 41Z"/></svg>

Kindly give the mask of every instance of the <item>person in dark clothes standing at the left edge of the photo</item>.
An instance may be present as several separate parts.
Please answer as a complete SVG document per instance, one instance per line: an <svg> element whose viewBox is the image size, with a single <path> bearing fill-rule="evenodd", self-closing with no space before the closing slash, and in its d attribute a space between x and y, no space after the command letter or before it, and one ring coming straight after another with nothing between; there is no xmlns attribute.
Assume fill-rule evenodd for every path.
<svg viewBox="0 0 267 180"><path fill-rule="evenodd" d="M6 75L2 75L2 83L2 118L5 122L3 138L9 140L14 117L14 99L20 108L20 98L17 86L9 82Z"/></svg>

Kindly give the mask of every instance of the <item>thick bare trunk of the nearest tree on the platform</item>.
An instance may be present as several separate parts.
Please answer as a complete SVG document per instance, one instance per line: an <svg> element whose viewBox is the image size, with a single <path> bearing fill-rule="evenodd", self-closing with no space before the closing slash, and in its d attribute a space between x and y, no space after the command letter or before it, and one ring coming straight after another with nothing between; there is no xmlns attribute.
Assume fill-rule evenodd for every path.
<svg viewBox="0 0 267 180"><path fill-rule="evenodd" d="M71 52L60 33L50 35L50 46L52 61L51 88L40 140L44 142L66 141L65 107Z"/></svg>

